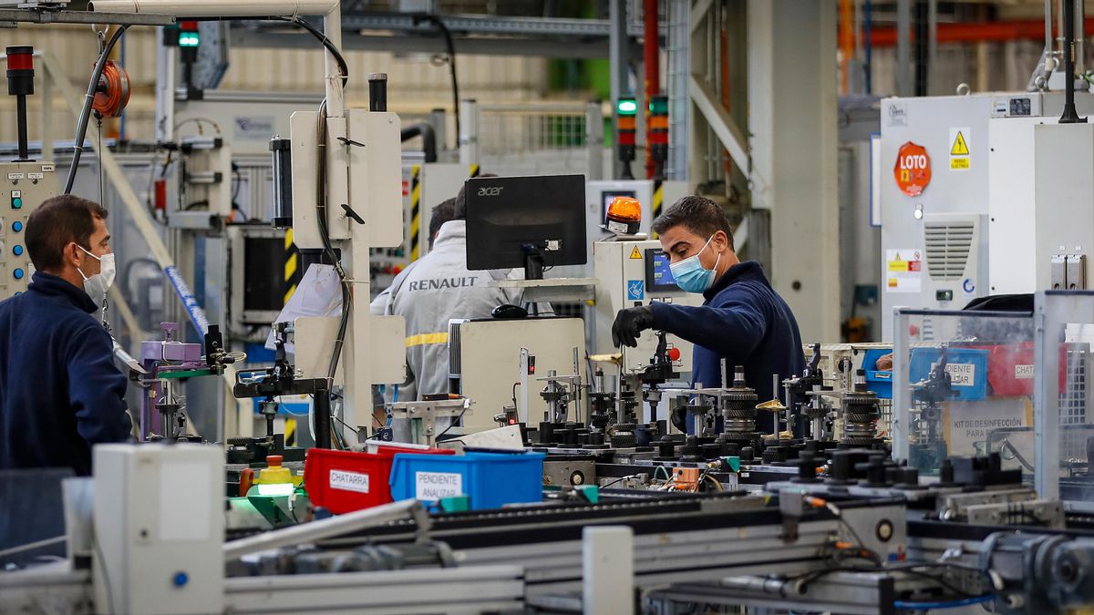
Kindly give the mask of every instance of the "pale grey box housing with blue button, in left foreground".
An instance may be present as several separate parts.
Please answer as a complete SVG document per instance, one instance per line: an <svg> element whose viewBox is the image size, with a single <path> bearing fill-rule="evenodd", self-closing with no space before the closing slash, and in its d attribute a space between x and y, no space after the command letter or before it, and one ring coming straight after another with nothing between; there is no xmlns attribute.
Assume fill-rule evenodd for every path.
<svg viewBox="0 0 1094 615"><path fill-rule="evenodd" d="M202 444L100 444L95 604L102 612L221 613L224 451ZM219 506L218 506L219 504Z"/></svg>

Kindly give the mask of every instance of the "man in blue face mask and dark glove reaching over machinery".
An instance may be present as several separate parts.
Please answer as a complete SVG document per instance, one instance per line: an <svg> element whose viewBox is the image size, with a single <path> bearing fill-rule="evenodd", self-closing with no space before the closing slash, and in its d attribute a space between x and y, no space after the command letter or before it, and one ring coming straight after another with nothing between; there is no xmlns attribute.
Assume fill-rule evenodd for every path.
<svg viewBox="0 0 1094 615"><path fill-rule="evenodd" d="M725 358L731 369L744 367L745 381L761 402L775 398L772 374L783 380L805 369L798 322L759 263L737 258L722 208L708 198L684 197L654 220L652 229L668 255L676 285L702 293L706 301L700 306L652 301L620 310L612 325L615 345L635 347L645 329L668 332L695 345L693 382L722 386ZM757 427L767 432L773 430L772 422L769 413L757 417Z"/></svg>

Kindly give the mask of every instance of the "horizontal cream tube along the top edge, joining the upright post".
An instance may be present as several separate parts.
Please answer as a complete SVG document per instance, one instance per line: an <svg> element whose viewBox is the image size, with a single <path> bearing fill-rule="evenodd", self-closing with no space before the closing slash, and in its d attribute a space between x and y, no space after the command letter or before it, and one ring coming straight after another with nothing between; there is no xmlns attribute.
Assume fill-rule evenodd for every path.
<svg viewBox="0 0 1094 615"><path fill-rule="evenodd" d="M159 13L186 18L264 18L325 15L338 0L92 0L89 11Z"/></svg>

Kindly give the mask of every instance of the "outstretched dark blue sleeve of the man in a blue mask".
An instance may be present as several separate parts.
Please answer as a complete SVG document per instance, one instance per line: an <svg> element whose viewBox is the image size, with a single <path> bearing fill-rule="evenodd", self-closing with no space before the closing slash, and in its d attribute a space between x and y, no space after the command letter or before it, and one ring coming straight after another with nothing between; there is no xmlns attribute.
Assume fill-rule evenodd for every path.
<svg viewBox="0 0 1094 615"><path fill-rule="evenodd" d="M668 332L730 360L750 356L764 339L767 317L750 302L730 299L720 305L676 305L653 301L653 328Z"/></svg>

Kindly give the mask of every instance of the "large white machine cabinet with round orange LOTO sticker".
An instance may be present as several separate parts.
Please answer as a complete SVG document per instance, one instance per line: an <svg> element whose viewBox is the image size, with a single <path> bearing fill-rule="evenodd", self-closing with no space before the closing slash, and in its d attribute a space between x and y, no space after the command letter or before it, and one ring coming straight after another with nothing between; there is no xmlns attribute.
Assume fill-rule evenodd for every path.
<svg viewBox="0 0 1094 615"><path fill-rule="evenodd" d="M882 101L874 150L882 314L896 305L961 309L977 297L1051 288L1057 255L1061 264L1073 255L1078 267L1094 242L1081 234L1083 225L1054 227L1070 222L1074 210L1061 214L1067 199L1052 190L1074 186L1074 176L1061 183L1050 174L1063 173L1054 161L1081 153L1054 137L1038 153L1035 139L1054 129L1063 98L1064 92L1037 91ZM1094 112L1094 96L1076 93L1075 107ZM892 326L883 318L883 339L893 339Z"/></svg>

